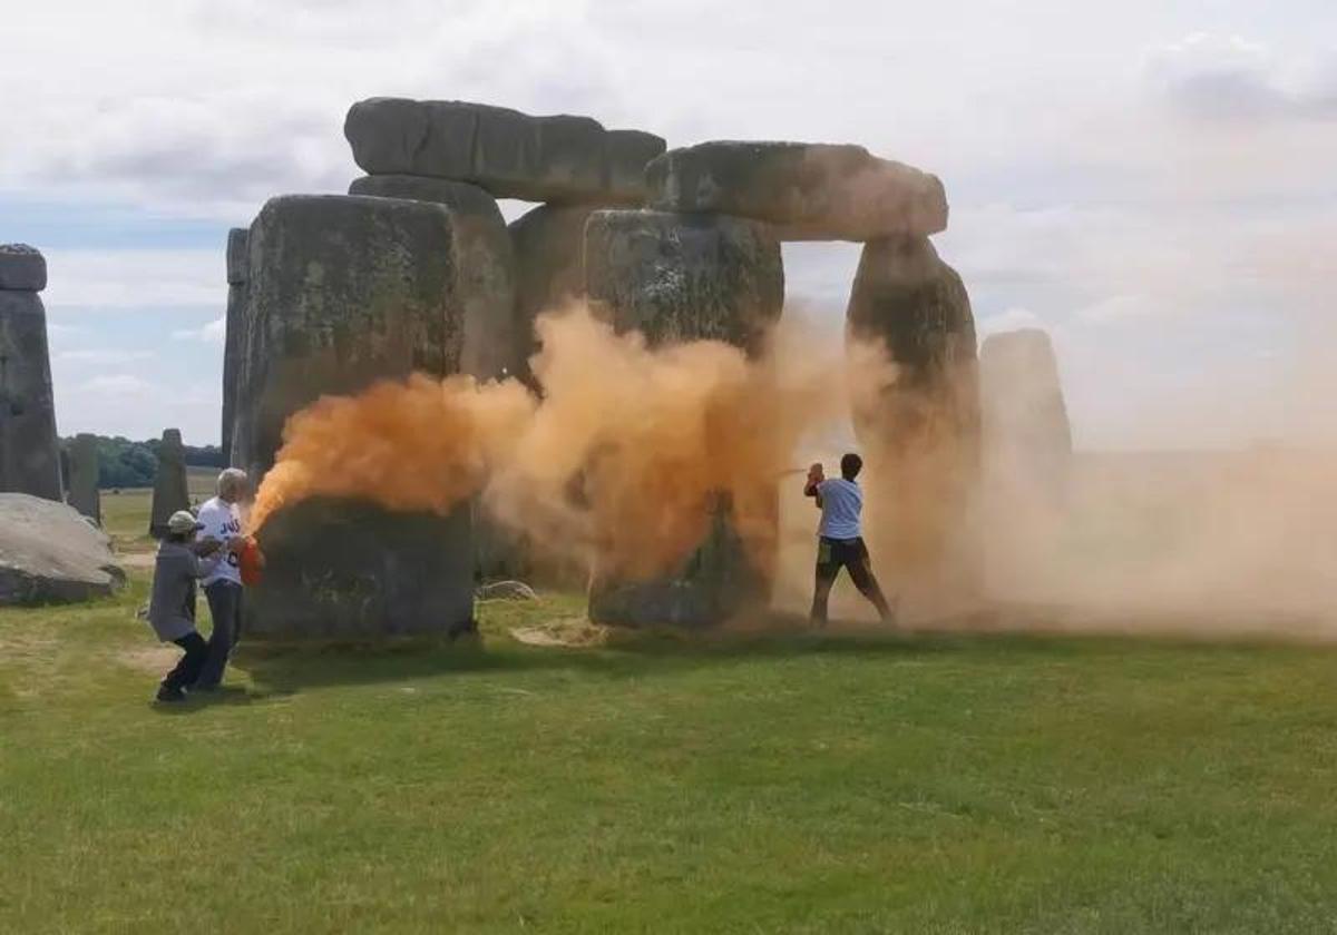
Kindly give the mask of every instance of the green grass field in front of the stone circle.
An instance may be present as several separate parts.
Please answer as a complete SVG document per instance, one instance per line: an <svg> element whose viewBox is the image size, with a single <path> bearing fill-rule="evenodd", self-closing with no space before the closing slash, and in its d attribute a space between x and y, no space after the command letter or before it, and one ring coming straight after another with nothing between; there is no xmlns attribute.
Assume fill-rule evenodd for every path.
<svg viewBox="0 0 1337 935"><path fill-rule="evenodd" d="M144 589L0 610L0 931L1337 931L1333 650L512 638L548 597L164 711Z"/></svg>

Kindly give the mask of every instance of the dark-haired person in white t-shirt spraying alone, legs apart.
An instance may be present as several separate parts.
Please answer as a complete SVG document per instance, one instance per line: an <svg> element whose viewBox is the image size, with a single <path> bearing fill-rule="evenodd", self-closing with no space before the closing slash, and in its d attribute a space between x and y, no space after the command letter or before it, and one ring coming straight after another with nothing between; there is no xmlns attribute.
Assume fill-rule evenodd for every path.
<svg viewBox="0 0 1337 935"><path fill-rule="evenodd" d="M892 622L894 618L873 576L873 564L868 557L868 546L864 545L864 492L854 482L862 467L864 459L850 453L840 459L841 476L836 480L828 481L820 463L808 472L804 496L813 497L822 512L822 521L817 528L817 585L813 592L813 621L817 624L826 624L826 600L841 568L849 570L858 593L873 602L882 622Z"/></svg>

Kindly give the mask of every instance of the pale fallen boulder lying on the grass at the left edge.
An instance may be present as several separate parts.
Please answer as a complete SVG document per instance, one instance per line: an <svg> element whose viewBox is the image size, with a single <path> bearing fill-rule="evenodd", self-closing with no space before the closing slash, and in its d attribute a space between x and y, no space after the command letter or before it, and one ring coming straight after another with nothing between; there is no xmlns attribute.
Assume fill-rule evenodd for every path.
<svg viewBox="0 0 1337 935"><path fill-rule="evenodd" d="M124 581L111 540L72 508L0 493L0 605L86 601Z"/></svg>

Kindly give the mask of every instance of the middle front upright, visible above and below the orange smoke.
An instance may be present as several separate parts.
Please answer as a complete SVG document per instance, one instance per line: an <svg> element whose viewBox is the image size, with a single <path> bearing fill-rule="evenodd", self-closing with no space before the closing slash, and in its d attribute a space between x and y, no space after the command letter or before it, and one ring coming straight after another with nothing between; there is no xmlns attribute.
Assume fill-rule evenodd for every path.
<svg viewBox="0 0 1337 935"><path fill-rule="evenodd" d="M586 226L586 287L619 331L640 331L650 345L709 338L755 354L779 317L785 272L779 242L763 224L719 215L599 211ZM749 498L770 506L774 530L774 489ZM727 497L715 497L706 509L705 538L664 577L628 581L611 565L595 568L590 618L624 626L710 626L765 608L773 561L743 548ZM767 525L766 517L750 521Z"/></svg>

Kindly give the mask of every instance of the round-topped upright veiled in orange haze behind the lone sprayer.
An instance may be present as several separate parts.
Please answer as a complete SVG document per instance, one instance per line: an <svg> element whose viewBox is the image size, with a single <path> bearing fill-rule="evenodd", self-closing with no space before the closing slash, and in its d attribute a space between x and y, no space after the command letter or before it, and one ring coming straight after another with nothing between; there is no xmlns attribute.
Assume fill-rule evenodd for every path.
<svg viewBox="0 0 1337 935"><path fill-rule="evenodd" d="M860 256L846 323L874 560L902 588L971 590L980 415L965 286L927 238L873 240ZM873 366L869 349L894 366Z"/></svg>

